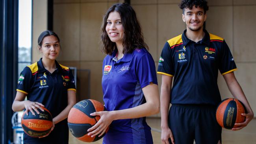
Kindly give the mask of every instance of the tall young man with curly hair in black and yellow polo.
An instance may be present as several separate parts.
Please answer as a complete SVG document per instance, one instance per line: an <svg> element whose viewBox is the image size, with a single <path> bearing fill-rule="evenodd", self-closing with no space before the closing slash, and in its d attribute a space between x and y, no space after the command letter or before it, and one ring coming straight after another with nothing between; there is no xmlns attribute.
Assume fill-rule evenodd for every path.
<svg viewBox="0 0 256 144"><path fill-rule="evenodd" d="M245 122L235 124L238 127L232 130L247 126L254 114L234 76L237 68L228 45L203 29L207 2L183 0L180 8L187 28L165 43L158 65L158 74L162 74L161 140L163 144L193 144L194 140L197 144L221 144L221 127L215 119L216 106L221 102L218 70L248 112L242 114Z"/></svg>

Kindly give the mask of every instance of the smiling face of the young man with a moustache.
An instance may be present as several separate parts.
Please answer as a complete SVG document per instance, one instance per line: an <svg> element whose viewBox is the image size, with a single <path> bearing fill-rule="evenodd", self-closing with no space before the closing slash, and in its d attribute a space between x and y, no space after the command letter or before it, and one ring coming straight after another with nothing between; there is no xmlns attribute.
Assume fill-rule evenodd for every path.
<svg viewBox="0 0 256 144"><path fill-rule="evenodd" d="M185 8L182 14L182 20L186 23L187 30L191 31L202 30L206 17L204 9L199 6L193 6L192 9Z"/></svg>

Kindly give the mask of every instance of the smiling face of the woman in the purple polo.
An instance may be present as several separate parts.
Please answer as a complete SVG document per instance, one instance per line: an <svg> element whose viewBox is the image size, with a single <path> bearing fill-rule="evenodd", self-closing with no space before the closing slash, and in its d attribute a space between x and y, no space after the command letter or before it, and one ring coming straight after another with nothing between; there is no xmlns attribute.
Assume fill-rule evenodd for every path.
<svg viewBox="0 0 256 144"><path fill-rule="evenodd" d="M124 39L124 28L122 26L120 14L117 11L109 13L106 32L112 42L115 42L117 46L122 45L122 41Z"/></svg>

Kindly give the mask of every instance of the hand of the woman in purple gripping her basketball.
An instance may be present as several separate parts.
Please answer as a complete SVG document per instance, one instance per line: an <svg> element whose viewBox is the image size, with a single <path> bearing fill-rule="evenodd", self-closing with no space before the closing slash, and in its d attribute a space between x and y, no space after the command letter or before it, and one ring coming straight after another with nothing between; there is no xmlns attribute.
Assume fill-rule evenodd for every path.
<svg viewBox="0 0 256 144"><path fill-rule="evenodd" d="M100 134L98 137L102 136L105 131L108 129L108 126L113 121L113 111L100 111L91 113L91 116L100 116L100 120L91 128L89 128L87 131L91 131L88 133L88 135L91 135L91 137L95 137L96 135Z"/></svg>

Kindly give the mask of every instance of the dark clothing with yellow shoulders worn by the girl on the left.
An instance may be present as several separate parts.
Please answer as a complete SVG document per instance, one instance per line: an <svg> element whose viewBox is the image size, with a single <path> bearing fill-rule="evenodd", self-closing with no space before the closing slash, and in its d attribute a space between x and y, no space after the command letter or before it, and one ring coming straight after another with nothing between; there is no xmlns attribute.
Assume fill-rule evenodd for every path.
<svg viewBox="0 0 256 144"><path fill-rule="evenodd" d="M20 73L17 86L17 91L26 94L28 100L45 105L52 114L52 118L67 107L67 91L76 91L74 76L69 67L59 65L57 61L56 67L57 69L51 74L43 66L41 58L36 63L24 68ZM67 120L63 120L56 124L54 130L45 138L33 138L24 133L24 144L51 144L54 142L66 144L68 137Z"/></svg>

